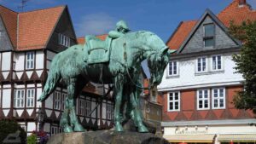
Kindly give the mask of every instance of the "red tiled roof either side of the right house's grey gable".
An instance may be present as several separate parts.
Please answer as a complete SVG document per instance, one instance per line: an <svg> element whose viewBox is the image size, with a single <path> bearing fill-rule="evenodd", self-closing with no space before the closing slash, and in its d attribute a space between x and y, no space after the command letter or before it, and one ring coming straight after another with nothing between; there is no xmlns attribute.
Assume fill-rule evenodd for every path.
<svg viewBox="0 0 256 144"><path fill-rule="evenodd" d="M249 5L239 6L239 0L234 0L218 14L218 19L227 27L230 26L230 21L232 20L236 25L240 25L242 21L256 20L256 11L251 9ZM170 49L179 49L186 37L189 36L196 22L197 20L181 22L166 45L169 46Z"/></svg>

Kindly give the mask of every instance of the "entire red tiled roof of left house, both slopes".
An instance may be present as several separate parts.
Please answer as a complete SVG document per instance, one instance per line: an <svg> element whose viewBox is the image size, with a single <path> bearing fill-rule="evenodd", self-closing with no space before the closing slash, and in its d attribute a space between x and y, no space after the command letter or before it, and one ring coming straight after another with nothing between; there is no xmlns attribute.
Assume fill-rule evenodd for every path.
<svg viewBox="0 0 256 144"><path fill-rule="evenodd" d="M65 8L16 13L0 5L0 15L16 50L43 49Z"/></svg>

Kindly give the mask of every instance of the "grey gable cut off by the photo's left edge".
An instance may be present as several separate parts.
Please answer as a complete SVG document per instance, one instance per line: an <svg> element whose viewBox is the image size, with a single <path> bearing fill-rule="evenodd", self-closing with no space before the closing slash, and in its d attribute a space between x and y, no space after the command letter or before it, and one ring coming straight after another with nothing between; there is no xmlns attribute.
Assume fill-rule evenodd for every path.
<svg viewBox="0 0 256 144"><path fill-rule="evenodd" d="M0 16L0 51L9 51L13 49L9 39L8 32L3 24L2 17Z"/></svg>

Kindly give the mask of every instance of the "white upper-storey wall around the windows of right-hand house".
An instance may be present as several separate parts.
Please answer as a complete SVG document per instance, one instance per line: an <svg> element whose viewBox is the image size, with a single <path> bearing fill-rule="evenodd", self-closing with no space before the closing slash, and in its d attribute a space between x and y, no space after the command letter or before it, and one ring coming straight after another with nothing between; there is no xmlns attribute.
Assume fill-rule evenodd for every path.
<svg viewBox="0 0 256 144"><path fill-rule="evenodd" d="M224 71L222 72L207 72L205 74L195 74L197 57L186 58L177 60L178 61L178 76L177 77L167 77L167 67L162 78L161 84L158 86L158 90L172 90L172 89L189 89L196 86L204 87L206 86L216 86L227 85L228 83L239 84L243 78L241 74L235 73L236 66L232 59L232 54L222 55ZM212 55L208 55L207 59L208 70L211 70L212 66ZM210 85L209 85L210 84Z"/></svg>

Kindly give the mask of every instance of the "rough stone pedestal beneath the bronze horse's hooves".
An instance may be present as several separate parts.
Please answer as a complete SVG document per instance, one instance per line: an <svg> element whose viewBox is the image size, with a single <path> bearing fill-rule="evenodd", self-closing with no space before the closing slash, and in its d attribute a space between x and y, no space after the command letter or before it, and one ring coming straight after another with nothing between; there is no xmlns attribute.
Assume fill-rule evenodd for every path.
<svg viewBox="0 0 256 144"><path fill-rule="evenodd" d="M169 144L162 137L151 133L132 131L115 132L113 130L88 131L53 135L48 144Z"/></svg>

